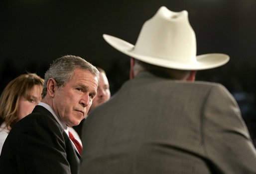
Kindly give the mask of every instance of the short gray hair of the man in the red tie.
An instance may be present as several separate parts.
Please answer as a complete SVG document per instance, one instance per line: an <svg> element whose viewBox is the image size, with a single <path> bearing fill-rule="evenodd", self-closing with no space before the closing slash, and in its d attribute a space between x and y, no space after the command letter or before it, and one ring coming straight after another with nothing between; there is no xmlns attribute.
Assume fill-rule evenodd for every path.
<svg viewBox="0 0 256 174"><path fill-rule="evenodd" d="M71 80L76 68L91 72L99 80L99 71L94 65L77 56L63 56L54 60L50 68L46 71L44 75L42 98L44 98L47 93L47 82L50 78L56 81L57 87L61 87Z"/></svg>

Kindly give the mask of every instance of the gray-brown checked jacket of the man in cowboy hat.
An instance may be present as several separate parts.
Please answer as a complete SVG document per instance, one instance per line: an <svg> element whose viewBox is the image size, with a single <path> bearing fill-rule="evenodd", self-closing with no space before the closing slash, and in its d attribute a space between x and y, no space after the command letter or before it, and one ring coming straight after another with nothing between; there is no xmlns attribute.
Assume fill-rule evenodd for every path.
<svg viewBox="0 0 256 174"><path fill-rule="evenodd" d="M83 125L80 174L256 174L239 107L216 83L139 73Z"/></svg>

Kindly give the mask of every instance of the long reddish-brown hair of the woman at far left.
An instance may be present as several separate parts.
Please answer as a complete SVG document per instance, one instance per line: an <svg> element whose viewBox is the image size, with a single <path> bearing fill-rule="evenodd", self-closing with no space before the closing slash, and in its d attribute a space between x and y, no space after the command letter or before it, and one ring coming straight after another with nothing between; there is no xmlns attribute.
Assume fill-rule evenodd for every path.
<svg viewBox="0 0 256 174"><path fill-rule="evenodd" d="M18 104L21 96L31 97L31 90L35 85L43 86L44 80L35 73L21 74L11 80L0 96L0 124L6 123L7 129L18 120Z"/></svg>

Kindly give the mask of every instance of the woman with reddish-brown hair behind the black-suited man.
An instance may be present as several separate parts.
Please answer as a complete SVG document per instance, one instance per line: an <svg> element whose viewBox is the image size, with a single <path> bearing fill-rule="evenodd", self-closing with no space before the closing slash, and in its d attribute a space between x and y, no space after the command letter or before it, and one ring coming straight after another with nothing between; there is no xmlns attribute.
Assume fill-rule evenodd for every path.
<svg viewBox="0 0 256 174"><path fill-rule="evenodd" d="M41 101L44 80L34 73L10 81L0 96L0 152L13 125Z"/></svg>

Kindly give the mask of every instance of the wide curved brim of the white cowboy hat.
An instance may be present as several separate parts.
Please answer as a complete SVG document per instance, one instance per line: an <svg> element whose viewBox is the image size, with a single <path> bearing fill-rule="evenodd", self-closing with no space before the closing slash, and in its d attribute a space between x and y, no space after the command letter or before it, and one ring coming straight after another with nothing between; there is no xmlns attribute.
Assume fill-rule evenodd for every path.
<svg viewBox="0 0 256 174"><path fill-rule="evenodd" d="M118 51L146 63L150 63L157 66L162 66L166 68L180 69L180 70L203 70L211 69L224 65L229 61L229 56L225 54L213 53L196 56L197 61L195 62L178 62L163 58L149 57L145 55L139 55L131 52L134 48L134 45L119 39L114 36L107 34L103 35L103 38L107 43Z"/></svg>

